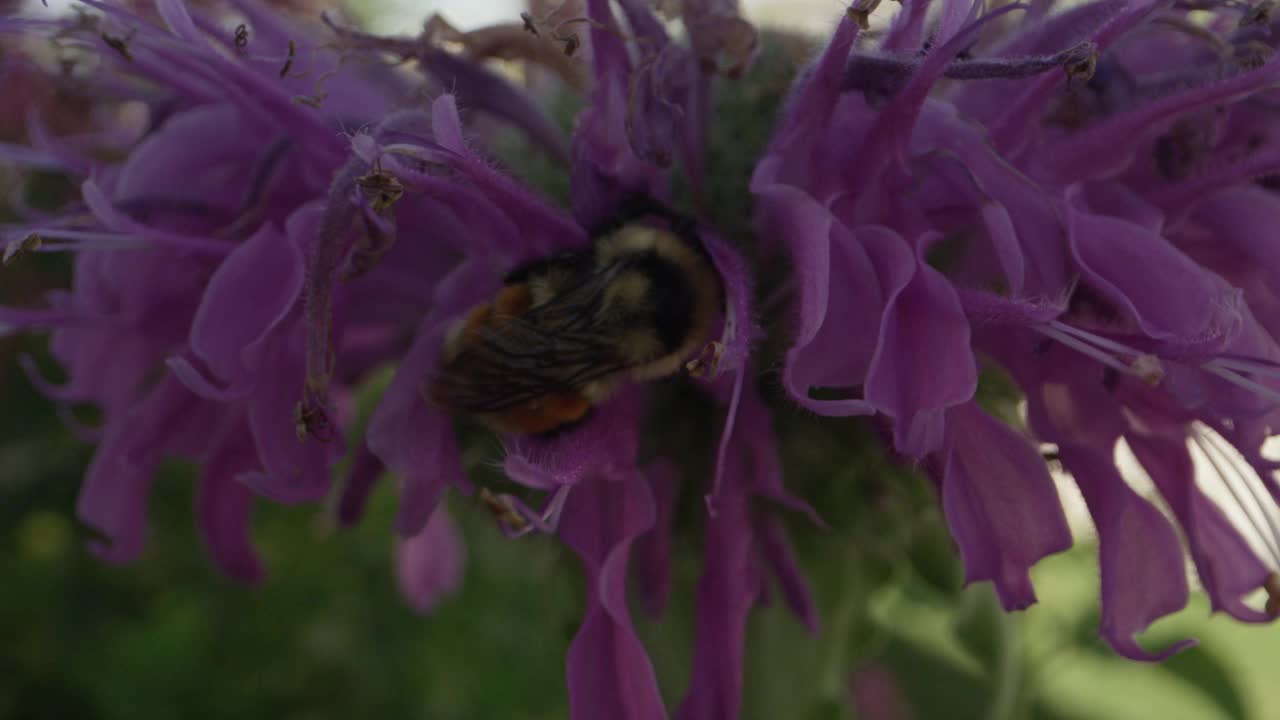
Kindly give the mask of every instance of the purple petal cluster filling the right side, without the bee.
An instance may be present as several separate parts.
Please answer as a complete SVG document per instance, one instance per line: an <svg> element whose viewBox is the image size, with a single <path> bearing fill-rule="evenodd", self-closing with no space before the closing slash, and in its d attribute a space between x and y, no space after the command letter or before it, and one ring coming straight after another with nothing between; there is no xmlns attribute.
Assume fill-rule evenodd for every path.
<svg viewBox="0 0 1280 720"><path fill-rule="evenodd" d="M1133 635L1188 593L1178 534L1117 452L1172 510L1215 609L1266 619L1242 597L1280 570L1261 447L1280 402L1261 240L1276 204L1253 182L1280 170L1270 20L905 3L867 37L874 5L801 74L753 178L762 237L796 273L785 389L876 415L924 461L968 579L1006 609L1034 602L1029 568L1071 542L1041 441L1097 527L1117 652L1185 647ZM974 404L979 365L1021 387L1025 430Z"/></svg>

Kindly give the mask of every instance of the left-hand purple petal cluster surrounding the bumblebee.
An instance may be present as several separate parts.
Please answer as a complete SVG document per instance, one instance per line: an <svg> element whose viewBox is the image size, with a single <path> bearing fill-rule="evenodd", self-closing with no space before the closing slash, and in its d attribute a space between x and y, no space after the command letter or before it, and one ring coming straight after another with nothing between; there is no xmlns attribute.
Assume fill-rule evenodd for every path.
<svg viewBox="0 0 1280 720"><path fill-rule="evenodd" d="M305 29L251 0L234 5L239 27L160 0L161 28L91 5L102 15L0 20L3 31L81 37L86 60L100 63L96 102L142 109L133 127L104 113L87 140L45 133L35 156L0 147L83 181L64 214L5 231L10 259L74 252L72 290L51 293L46 309L3 309L0 320L51 329L69 379L37 382L59 402L102 409L79 503L104 536L97 550L111 561L138 556L156 466L188 457L204 468L198 519L212 557L259 580L252 505L321 500L346 459L338 521L358 521L379 477L394 475L399 584L429 611L463 573L442 501L449 488L475 489L454 419L422 392L447 338L513 268L586 246L584 228L636 193L664 197L672 160L701 182L712 76L745 69L754 29L732 3L691 3L685 47L648 4L621 4L623 32L607 3L588 3L594 82L564 142L524 91L472 59L485 55L475 33L435 23L417 38L385 38L333 15ZM461 54L440 42L458 37ZM559 32L543 40L575 51L579 42ZM408 59L421 78L394 69ZM579 222L495 167L465 122L472 113L572 159ZM558 534L582 560L586 611L567 659L573 717L666 716L626 598L635 573L650 609L664 603L678 487L704 495L710 512L705 621L681 717L736 716L746 618L765 573L810 628L818 623L781 523L751 503L809 511L782 488L772 421L748 382L759 336L749 269L713 228L694 232L723 291L713 342L694 359L703 391L723 407L714 477L682 478L673 459L641 456L648 389L635 386L571 429L502 438L509 480L540 497L538 507L479 491L509 534ZM394 375L365 424L355 397L387 364Z"/></svg>

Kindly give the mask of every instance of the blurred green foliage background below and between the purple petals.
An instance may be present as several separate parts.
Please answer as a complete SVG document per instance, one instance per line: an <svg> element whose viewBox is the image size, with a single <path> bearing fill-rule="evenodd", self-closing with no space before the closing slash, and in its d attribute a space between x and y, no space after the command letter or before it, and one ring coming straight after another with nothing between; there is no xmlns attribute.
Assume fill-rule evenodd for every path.
<svg viewBox="0 0 1280 720"><path fill-rule="evenodd" d="M771 42L753 74L719 99L708 205L744 243L746 178L795 58ZM558 105L567 126L575 104ZM563 170L539 164L512 138L498 146L513 172L563 197ZM56 182L44 183L37 199L59 192ZM24 261L4 270L0 300L31 297L65 274L63 259ZM38 337L0 338L0 719L566 717L563 657L584 605L577 560L552 538L506 539L470 498L451 500L467 546L463 587L428 616L396 589L396 497L385 482L348 530L335 529L325 507L261 503L256 538L270 574L247 588L206 561L193 528L193 469L173 462L155 483L142 560L99 562L73 515L91 448L18 369L19 354L40 355L42 346ZM660 393L658 413L681 395ZM1007 396L991 391L988 402L1007 404ZM705 413L680 413L691 429L677 423L657 442L701 460L687 468L675 592L659 621L635 611L672 707L687 684L700 564L699 492L689 488L705 475L699 446L714 427ZM1193 635L1199 647L1160 665L1119 659L1096 637L1088 541L1042 562L1033 574L1041 603L1006 615L986 585L960 588L932 489L886 465L861 423L818 420L780 404L778 424L790 486L832 525L788 518L823 633L808 634L778 603L754 614L745 717L1280 716L1275 629L1210 619L1197 596L1144 642L1161 647ZM495 459L493 443L477 439L467 459L483 471ZM897 711L859 715L851 679L867 687L877 678L891 679L879 687Z"/></svg>

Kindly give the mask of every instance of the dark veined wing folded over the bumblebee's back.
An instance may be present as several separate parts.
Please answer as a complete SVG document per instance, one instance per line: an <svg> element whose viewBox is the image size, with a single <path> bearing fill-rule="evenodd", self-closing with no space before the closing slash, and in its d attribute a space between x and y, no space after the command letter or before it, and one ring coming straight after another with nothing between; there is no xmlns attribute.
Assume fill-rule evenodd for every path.
<svg viewBox="0 0 1280 720"><path fill-rule="evenodd" d="M465 413L494 413L549 392L570 392L627 369L623 323L598 313L614 269L590 274L556 297L483 328L431 383L431 397Z"/></svg>

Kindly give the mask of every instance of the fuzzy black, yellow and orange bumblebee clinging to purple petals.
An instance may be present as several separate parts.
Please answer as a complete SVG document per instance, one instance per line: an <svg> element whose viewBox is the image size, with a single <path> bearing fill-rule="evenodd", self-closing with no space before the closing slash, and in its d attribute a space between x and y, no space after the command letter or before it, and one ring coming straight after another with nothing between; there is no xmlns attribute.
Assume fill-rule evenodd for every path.
<svg viewBox="0 0 1280 720"><path fill-rule="evenodd" d="M545 434L585 419L622 382L678 372L705 345L723 290L694 223L640 206L637 222L613 223L590 247L508 273L445 340L428 397L498 432Z"/></svg>

